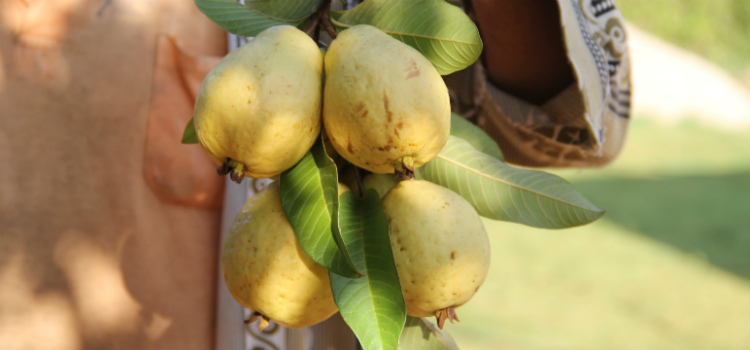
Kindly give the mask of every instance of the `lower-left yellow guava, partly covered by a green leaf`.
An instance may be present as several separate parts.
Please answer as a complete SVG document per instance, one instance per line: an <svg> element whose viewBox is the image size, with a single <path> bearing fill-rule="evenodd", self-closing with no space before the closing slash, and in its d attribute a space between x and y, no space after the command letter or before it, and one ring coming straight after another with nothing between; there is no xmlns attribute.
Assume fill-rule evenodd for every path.
<svg viewBox="0 0 750 350"><path fill-rule="evenodd" d="M224 241L221 268L237 302L285 327L311 326L338 311L328 270L297 243L278 183L250 198L237 214Z"/></svg>

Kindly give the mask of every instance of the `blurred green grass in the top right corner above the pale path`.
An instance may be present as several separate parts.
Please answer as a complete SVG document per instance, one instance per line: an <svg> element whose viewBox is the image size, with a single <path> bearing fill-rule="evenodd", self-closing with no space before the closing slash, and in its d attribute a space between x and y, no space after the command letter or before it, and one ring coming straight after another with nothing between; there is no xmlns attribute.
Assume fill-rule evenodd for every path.
<svg viewBox="0 0 750 350"><path fill-rule="evenodd" d="M619 0L627 21L717 63L750 68L750 1Z"/></svg>

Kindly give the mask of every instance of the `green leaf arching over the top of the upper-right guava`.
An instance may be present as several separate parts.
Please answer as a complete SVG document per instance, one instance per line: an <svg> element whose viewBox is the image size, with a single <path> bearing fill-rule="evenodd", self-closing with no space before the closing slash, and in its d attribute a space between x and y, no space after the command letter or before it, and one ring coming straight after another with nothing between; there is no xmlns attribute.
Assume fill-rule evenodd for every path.
<svg viewBox="0 0 750 350"><path fill-rule="evenodd" d="M337 30L378 27L421 52L441 75L468 67L482 53L477 26L443 0L366 0L331 22Z"/></svg>

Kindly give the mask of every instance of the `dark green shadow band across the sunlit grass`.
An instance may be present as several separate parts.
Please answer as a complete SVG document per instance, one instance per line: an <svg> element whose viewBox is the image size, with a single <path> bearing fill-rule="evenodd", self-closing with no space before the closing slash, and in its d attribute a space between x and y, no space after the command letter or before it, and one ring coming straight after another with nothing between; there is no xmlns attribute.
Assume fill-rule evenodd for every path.
<svg viewBox="0 0 750 350"><path fill-rule="evenodd" d="M608 220L750 280L750 173L572 182Z"/></svg>

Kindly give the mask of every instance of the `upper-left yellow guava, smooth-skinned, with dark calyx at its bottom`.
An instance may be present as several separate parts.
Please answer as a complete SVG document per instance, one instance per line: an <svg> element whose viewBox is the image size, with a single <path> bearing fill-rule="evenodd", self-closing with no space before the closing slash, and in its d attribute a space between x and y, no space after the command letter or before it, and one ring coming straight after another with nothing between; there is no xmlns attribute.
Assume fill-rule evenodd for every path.
<svg viewBox="0 0 750 350"><path fill-rule="evenodd" d="M220 173L265 178L296 164L321 125L323 56L299 29L266 29L208 73L195 101L198 140Z"/></svg>

